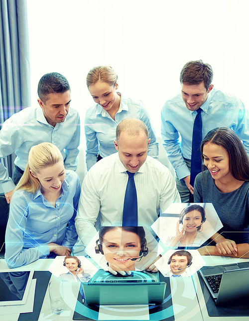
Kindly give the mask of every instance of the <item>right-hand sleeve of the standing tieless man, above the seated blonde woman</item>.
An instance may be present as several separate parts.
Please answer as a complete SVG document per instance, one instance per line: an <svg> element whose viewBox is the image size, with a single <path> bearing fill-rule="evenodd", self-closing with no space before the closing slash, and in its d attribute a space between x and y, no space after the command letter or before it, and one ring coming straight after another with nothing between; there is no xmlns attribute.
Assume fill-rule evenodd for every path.
<svg viewBox="0 0 249 321"><path fill-rule="evenodd" d="M77 113L77 125L74 135L70 143L64 148L66 159L64 160L64 166L66 169L71 169L76 171L78 166L78 154L79 154L79 145L80 145L80 117Z"/></svg>

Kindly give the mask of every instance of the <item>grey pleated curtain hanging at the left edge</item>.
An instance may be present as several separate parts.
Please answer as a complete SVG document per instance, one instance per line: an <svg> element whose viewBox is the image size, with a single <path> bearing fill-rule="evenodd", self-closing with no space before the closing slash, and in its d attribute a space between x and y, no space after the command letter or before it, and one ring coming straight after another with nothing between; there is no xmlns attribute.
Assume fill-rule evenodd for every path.
<svg viewBox="0 0 249 321"><path fill-rule="evenodd" d="M26 0L0 0L0 128L13 113L30 106L30 65ZM14 155L4 159L12 175Z"/></svg>

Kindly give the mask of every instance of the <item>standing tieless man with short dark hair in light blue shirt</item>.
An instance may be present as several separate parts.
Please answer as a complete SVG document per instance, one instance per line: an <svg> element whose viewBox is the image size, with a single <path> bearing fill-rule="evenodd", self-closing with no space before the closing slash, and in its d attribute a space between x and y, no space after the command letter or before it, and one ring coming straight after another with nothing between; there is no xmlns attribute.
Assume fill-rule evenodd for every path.
<svg viewBox="0 0 249 321"><path fill-rule="evenodd" d="M13 114L0 131L0 185L8 203L34 145L42 142L56 145L63 155L65 168L77 169L80 119L76 110L69 109L71 96L67 79L57 72L45 74L38 83L38 96L39 106ZM11 179L2 158L13 152L16 158Z"/></svg>

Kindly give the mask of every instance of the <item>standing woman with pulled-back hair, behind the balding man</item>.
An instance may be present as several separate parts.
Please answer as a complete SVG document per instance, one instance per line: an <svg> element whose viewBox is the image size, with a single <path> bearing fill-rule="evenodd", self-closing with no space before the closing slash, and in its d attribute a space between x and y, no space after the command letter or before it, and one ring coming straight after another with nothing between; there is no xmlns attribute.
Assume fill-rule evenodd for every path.
<svg viewBox="0 0 249 321"><path fill-rule="evenodd" d="M114 146L116 127L125 118L137 118L146 124L151 139L148 155L158 158L158 143L148 111L140 100L117 92L117 79L118 75L109 66L94 67L87 75L87 86L96 102L85 117L88 170L101 158L117 152Z"/></svg>

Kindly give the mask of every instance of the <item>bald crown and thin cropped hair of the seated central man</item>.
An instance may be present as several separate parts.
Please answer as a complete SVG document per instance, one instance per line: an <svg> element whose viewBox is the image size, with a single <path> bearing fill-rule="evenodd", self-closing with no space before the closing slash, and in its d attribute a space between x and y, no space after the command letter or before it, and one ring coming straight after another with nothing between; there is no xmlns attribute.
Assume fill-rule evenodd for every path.
<svg viewBox="0 0 249 321"><path fill-rule="evenodd" d="M149 131L144 122L136 118L126 118L122 120L116 128L116 141L119 144L120 135L122 131L127 131L128 135L130 136L138 136L140 131L142 130L145 132L145 135L148 140Z"/></svg>

